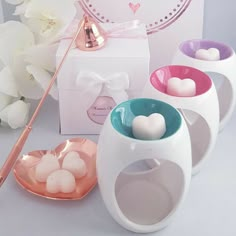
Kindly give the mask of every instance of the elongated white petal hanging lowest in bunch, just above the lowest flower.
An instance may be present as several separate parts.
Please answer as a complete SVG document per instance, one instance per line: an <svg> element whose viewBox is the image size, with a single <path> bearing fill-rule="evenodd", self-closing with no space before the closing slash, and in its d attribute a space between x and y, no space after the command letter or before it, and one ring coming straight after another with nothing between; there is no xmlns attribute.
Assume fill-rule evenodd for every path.
<svg viewBox="0 0 236 236"><path fill-rule="evenodd" d="M21 96L31 99L40 99L43 95L43 89L34 79L33 75L26 70L28 64L23 56L17 57L13 67L13 73L16 79L18 91Z"/></svg>

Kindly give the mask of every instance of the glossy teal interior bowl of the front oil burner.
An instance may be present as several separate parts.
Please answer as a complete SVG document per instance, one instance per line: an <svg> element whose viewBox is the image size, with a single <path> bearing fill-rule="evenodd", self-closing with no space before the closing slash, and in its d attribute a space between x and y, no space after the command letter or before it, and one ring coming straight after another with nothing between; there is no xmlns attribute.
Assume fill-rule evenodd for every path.
<svg viewBox="0 0 236 236"><path fill-rule="evenodd" d="M159 113L166 121L166 133L161 138L168 138L175 134L181 126L181 116L179 112L169 104L155 99L133 99L119 104L111 113L111 123L120 134L134 138L132 132L132 122L136 116L150 116Z"/></svg>

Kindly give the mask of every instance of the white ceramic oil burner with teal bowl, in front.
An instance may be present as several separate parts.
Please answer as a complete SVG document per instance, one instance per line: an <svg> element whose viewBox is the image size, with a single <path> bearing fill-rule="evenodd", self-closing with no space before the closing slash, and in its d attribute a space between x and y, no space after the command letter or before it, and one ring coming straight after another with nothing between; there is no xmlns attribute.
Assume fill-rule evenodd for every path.
<svg viewBox="0 0 236 236"><path fill-rule="evenodd" d="M140 116L146 117L147 129L137 126L136 134L145 132L151 137L150 126L163 130L163 120L158 124L156 113L164 117L164 136L134 138L132 126ZM174 107L153 99L129 100L115 107L102 129L97 155L98 183L111 216L137 233L167 226L188 192L191 157L187 125ZM147 166L150 160L153 168Z"/></svg>

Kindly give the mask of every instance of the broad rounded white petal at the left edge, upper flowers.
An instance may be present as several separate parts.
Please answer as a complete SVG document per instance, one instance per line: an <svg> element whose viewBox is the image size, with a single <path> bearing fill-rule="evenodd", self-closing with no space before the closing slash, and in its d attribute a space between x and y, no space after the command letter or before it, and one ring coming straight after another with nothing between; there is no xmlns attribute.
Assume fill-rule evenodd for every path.
<svg viewBox="0 0 236 236"><path fill-rule="evenodd" d="M14 57L34 44L34 35L27 26L18 21L0 25L0 60L12 65Z"/></svg>

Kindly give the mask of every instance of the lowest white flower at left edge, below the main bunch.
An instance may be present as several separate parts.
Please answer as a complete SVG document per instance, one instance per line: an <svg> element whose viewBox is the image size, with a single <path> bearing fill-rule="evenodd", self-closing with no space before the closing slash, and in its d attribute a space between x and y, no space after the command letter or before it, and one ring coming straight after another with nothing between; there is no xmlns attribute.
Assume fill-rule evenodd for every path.
<svg viewBox="0 0 236 236"><path fill-rule="evenodd" d="M18 100L0 112L3 125L8 124L12 129L24 127L29 119L30 104Z"/></svg>

